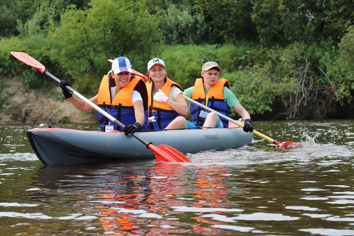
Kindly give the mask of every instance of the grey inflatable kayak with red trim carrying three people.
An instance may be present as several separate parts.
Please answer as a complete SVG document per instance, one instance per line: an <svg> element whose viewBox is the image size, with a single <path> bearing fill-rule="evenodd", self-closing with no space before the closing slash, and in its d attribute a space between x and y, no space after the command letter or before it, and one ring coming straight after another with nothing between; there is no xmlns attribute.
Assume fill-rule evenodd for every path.
<svg viewBox="0 0 354 236"><path fill-rule="evenodd" d="M93 161L124 161L154 158L154 152L132 136L76 129L39 128L27 130L29 142L44 165L67 165ZM251 143L253 133L242 128L208 128L139 132L157 146L166 144L180 152L224 150Z"/></svg>

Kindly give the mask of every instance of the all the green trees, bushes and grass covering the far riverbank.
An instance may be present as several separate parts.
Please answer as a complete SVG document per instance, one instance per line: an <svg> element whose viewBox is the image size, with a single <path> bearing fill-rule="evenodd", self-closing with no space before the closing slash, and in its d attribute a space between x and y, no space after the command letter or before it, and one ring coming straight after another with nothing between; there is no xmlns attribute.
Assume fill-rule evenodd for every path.
<svg viewBox="0 0 354 236"><path fill-rule="evenodd" d="M12 84L22 84L24 90L18 92L63 103L55 83L10 54L22 51L87 98L97 93L110 69L107 59L125 56L133 69L145 74L151 58L162 58L167 75L183 88L200 77L202 64L216 61L222 68L219 77L229 80L252 120L353 119L352 9L353 4L344 0L177 0L173 4L167 0L23 0L4 4L0 112L17 106L20 115L36 103L31 99L16 102L17 91L9 88ZM52 122L75 121L61 115L56 114ZM87 114L88 120L93 116Z"/></svg>

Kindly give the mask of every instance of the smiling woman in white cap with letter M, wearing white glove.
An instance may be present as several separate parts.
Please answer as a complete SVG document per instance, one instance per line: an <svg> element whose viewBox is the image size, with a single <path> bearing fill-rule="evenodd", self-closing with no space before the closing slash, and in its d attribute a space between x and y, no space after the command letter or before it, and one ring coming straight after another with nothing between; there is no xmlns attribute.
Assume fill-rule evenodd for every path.
<svg viewBox="0 0 354 236"><path fill-rule="evenodd" d="M149 129L187 128L184 115L188 106L183 98L182 87L166 76L166 66L160 58L148 62L149 81L145 82L148 91L148 111L145 122Z"/></svg>

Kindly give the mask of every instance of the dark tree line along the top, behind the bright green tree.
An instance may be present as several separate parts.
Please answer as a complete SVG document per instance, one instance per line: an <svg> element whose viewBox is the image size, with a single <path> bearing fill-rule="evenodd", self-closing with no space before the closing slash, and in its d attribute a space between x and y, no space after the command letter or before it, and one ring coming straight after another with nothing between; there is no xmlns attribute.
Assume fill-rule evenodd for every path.
<svg viewBox="0 0 354 236"><path fill-rule="evenodd" d="M264 46L287 45L294 41L311 44L329 39L339 42L354 19L350 0L0 0L0 37L22 34L26 24L29 29L57 25L69 5L75 10L88 10L97 5L109 6L112 2L116 3L113 9L122 6L124 10L129 6L137 14L147 11L153 15L154 19L148 17L135 26L155 24L161 34L155 35L155 39L168 44L234 44L257 38ZM101 10L109 12L102 14L105 18L124 16L122 11L118 11L123 13L118 17L110 8ZM48 17L50 21L46 21Z"/></svg>

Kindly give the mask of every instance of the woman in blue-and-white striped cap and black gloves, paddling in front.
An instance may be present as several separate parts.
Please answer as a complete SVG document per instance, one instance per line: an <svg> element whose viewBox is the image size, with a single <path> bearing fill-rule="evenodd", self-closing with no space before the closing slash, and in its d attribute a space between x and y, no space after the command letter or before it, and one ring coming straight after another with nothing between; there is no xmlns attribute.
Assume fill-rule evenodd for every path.
<svg viewBox="0 0 354 236"><path fill-rule="evenodd" d="M144 111L147 110L147 90L142 77L132 77L132 68L128 58L118 57L112 63L112 70L104 75L98 94L90 101L101 109L115 117L123 124L121 129L114 122L98 113L98 119L102 132L124 131L126 135L140 131L144 125ZM84 101L73 97L65 86L69 83L61 80L60 87L66 99L68 99L80 111L90 111L93 108ZM127 99L127 98L131 99ZM147 124L144 129L148 129Z"/></svg>

